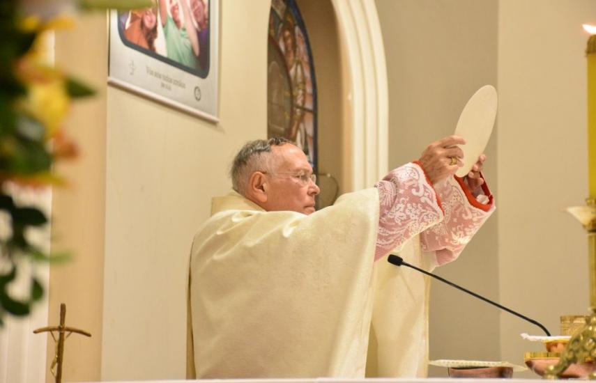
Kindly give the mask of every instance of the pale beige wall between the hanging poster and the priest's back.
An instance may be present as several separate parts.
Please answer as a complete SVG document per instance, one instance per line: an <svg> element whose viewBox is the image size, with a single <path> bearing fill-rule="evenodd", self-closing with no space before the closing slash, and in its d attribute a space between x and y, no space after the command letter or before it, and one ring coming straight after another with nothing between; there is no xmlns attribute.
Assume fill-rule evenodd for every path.
<svg viewBox="0 0 596 383"><path fill-rule="evenodd" d="M185 377L190 242L266 136L269 6L221 2L219 124L108 89L103 380Z"/></svg>

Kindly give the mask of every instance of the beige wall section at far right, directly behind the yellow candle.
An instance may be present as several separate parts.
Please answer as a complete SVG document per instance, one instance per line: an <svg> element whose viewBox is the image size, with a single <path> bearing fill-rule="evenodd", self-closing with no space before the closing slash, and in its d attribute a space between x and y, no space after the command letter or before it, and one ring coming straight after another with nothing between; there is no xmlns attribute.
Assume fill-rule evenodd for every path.
<svg viewBox="0 0 596 383"><path fill-rule="evenodd" d="M558 334L560 315L588 313L585 233L560 210L588 196L581 24L596 3L501 0L498 16L500 296ZM504 359L540 350L521 332L540 329L501 316Z"/></svg>

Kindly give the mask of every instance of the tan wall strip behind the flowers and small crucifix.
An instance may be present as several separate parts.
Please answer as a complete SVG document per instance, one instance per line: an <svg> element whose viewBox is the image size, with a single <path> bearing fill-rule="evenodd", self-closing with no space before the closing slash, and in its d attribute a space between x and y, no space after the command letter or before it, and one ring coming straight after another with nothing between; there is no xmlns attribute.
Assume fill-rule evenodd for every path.
<svg viewBox="0 0 596 383"><path fill-rule="evenodd" d="M66 304L66 325L89 331L73 334L64 352L63 381L100 378L102 280L105 214L105 79L107 36L105 13L86 15L74 30L56 33L56 65L92 84L98 95L73 103L65 130L79 145L75 162L57 166L70 182L54 188L52 251L68 249L74 258L50 269L49 324L58 325ZM48 371L54 342L48 341ZM47 374L47 382L54 377Z"/></svg>

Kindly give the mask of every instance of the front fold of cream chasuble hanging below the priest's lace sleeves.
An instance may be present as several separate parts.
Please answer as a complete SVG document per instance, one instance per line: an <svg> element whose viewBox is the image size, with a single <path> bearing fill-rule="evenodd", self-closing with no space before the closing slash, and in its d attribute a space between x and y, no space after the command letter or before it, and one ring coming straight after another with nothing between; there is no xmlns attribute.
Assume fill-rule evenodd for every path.
<svg viewBox="0 0 596 383"><path fill-rule="evenodd" d="M420 249L418 235L392 253L421 269L434 268L434 257ZM367 376L426 377L429 277L392 265L387 256L375 263L375 272Z"/></svg>

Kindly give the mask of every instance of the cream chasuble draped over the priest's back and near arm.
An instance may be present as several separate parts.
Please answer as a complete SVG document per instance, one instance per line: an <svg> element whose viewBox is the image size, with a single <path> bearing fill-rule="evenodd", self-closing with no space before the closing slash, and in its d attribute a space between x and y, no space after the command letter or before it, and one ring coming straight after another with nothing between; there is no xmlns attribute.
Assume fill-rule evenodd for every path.
<svg viewBox="0 0 596 383"><path fill-rule="evenodd" d="M213 208L191 251L197 377L363 377L377 190L310 215L236 193Z"/></svg>

